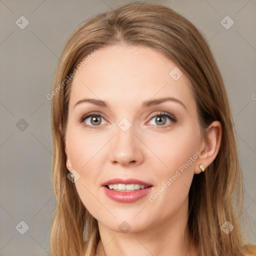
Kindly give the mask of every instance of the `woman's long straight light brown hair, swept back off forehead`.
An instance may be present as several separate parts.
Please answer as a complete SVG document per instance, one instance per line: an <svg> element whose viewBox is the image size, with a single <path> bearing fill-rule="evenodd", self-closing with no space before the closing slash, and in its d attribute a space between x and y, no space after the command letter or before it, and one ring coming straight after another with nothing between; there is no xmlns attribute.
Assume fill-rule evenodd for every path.
<svg viewBox="0 0 256 256"><path fill-rule="evenodd" d="M242 242L243 181L233 120L223 80L209 46L195 26L172 9L159 4L130 3L83 22L69 37L60 56L49 95L52 185L57 202L50 232L52 256L93 255L100 238L97 220L67 178L64 141L70 74L91 52L119 43L149 46L176 63L193 84L202 133L212 121L221 122L219 152L207 171L194 175L189 190L187 231L199 252L207 256L252 253L250 244ZM234 226L228 235L221 230L226 220Z"/></svg>

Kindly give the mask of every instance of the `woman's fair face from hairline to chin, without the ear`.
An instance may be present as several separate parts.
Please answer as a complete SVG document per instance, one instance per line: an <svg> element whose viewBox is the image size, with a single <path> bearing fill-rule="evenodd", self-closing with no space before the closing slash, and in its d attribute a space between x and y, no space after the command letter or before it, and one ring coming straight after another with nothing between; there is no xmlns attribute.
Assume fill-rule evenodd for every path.
<svg viewBox="0 0 256 256"><path fill-rule="evenodd" d="M174 62L146 46L99 48L77 71L65 152L85 207L98 223L119 232L183 219L204 145L188 78ZM143 106L144 101L167 97L174 100ZM107 107L82 101L85 98L102 100ZM96 116L83 118L92 113ZM107 182L115 178L124 181ZM118 192L105 182L151 186L143 190L137 189L139 184L113 185L133 190Z"/></svg>

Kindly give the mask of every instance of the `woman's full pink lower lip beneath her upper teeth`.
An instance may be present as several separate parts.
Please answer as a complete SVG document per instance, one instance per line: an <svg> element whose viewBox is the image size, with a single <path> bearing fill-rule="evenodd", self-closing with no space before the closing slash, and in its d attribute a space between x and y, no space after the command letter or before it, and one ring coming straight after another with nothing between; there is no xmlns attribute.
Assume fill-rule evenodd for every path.
<svg viewBox="0 0 256 256"><path fill-rule="evenodd" d="M103 186L103 190L105 192L105 194L117 201L117 202L135 202L138 199L146 196L151 190L152 190L153 186L149 186L147 188L144 189L137 189L134 191L130 191L130 192L120 192L120 191L114 191L112 189L109 189L105 186Z"/></svg>

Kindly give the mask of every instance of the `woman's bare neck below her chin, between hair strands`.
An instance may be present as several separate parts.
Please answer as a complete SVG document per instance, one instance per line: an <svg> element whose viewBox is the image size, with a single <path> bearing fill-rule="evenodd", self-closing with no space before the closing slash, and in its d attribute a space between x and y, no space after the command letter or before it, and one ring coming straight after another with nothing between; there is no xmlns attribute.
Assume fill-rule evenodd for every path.
<svg viewBox="0 0 256 256"><path fill-rule="evenodd" d="M97 245L98 256L198 256L196 246L191 243L186 232L188 200L185 200L174 215L155 221L139 232L122 233L109 229L98 221L100 240ZM95 255L95 256L97 256Z"/></svg>

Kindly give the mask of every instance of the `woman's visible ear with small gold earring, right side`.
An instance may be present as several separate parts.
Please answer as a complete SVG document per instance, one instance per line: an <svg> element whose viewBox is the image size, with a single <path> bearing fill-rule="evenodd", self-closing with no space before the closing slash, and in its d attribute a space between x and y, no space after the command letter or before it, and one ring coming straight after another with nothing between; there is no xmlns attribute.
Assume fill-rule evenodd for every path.
<svg viewBox="0 0 256 256"><path fill-rule="evenodd" d="M200 142L201 154L196 159L194 173L201 172L199 165L202 164L206 169L207 166L215 159L220 143L221 143L222 128L219 121L213 121L207 129Z"/></svg>

